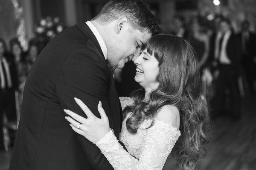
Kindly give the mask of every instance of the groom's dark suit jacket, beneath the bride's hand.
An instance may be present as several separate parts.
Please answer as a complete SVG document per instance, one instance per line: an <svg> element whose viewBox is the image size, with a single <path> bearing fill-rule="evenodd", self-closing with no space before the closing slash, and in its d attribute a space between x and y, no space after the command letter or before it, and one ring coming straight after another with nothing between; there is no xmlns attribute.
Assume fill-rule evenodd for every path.
<svg viewBox="0 0 256 170"><path fill-rule="evenodd" d="M81 22L53 38L26 79L9 170L112 170L96 147L76 134L63 109L85 117L74 97L99 117L102 101L117 139L121 111L113 74L96 37Z"/></svg>

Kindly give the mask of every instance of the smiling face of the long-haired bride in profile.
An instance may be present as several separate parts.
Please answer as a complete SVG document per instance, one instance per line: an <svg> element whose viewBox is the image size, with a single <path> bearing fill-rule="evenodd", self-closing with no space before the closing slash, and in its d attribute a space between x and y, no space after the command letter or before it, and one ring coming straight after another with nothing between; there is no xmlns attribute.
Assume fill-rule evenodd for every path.
<svg viewBox="0 0 256 170"><path fill-rule="evenodd" d="M159 71L158 61L154 54L150 55L147 49L143 50L139 57L134 60L137 66L135 81L138 82L145 90L157 88L157 75Z"/></svg>

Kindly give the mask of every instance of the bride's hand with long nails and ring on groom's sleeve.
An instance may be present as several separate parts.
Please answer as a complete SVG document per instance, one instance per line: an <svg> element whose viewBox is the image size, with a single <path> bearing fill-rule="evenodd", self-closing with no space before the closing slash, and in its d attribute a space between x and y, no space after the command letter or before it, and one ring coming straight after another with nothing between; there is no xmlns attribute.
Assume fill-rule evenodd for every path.
<svg viewBox="0 0 256 170"><path fill-rule="evenodd" d="M70 126L76 133L84 136L90 142L99 142L99 140L102 139L110 131L108 117L102 108L102 103L99 101L98 104L98 111L101 116L101 119L99 119L80 99L75 98L75 100L86 114L87 119L79 116L73 111L64 109L65 113L69 115L65 118L68 122L70 122Z"/></svg>

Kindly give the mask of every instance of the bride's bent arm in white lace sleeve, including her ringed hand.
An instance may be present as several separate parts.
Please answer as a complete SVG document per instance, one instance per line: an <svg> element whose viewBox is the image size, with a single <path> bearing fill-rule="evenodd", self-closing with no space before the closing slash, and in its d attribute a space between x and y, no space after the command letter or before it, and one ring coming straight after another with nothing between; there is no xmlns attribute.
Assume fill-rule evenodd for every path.
<svg viewBox="0 0 256 170"><path fill-rule="evenodd" d="M84 104L80 105L80 107L83 109ZM90 119L93 115L90 113L90 110L87 108L83 110L88 114L88 119ZM96 118L96 122L94 123L91 122L92 120L84 120L83 117L80 119L76 116L76 113L70 111L67 113L76 119L76 121L81 122L82 125L78 129L78 122L73 119L71 120L71 118L67 120L72 124L71 126L74 131L83 135L99 147L115 170L161 170L167 156L180 136L180 132L177 128L172 126L172 124L175 124L177 116L175 116L175 114L172 114L174 116L169 116L169 114L164 111L165 110L162 111L163 113L161 113L161 111L160 114L158 113L154 125L148 129L139 160L123 149L112 130L105 132L105 136L102 135L102 131L104 131L104 129L106 130L106 128L108 130L109 126L106 125L105 128L102 128L104 126L103 124L105 124L106 116L101 106L99 107L99 113L102 119L98 120L98 118ZM100 123L102 125L99 125Z"/></svg>

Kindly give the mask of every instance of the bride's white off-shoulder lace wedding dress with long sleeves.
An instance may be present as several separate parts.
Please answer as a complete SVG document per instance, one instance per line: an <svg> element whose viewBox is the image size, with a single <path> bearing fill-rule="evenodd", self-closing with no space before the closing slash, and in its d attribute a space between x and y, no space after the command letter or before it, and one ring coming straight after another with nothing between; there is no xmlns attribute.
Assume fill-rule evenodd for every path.
<svg viewBox="0 0 256 170"><path fill-rule="evenodd" d="M131 98L120 98L120 101L122 109L133 103ZM126 128L128 117L122 123L120 140L129 153L118 143L112 130L96 143L97 147L115 170L162 170L180 131L171 123L154 119L153 126L149 127L151 120L145 120L133 134Z"/></svg>

